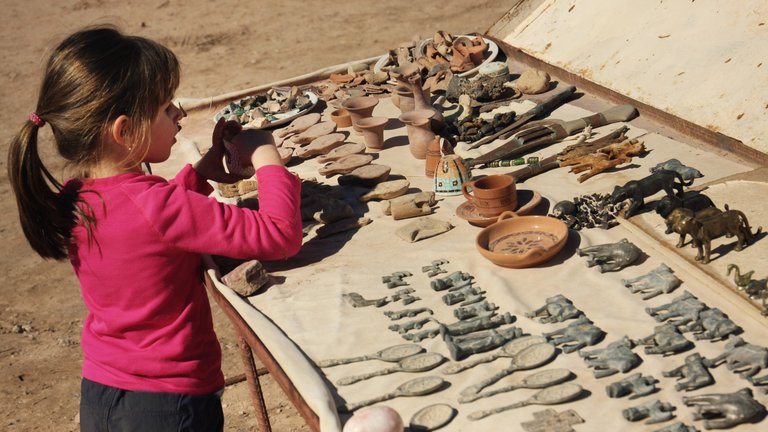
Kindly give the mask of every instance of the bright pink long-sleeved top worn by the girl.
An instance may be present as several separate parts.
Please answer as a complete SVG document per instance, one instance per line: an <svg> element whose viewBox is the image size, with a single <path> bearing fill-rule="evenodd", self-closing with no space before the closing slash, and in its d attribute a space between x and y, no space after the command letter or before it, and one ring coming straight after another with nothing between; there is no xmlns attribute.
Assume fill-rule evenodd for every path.
<svg viewBox="0 0 768 432"><path fill-rule="evenodd" d="M170 182L131 173L84 183L96 227L90 240L74 230L70 260L88 308L85 378L190 395L224 386L200 254L278 260L301 247L299 179L275 165L256 177L259 211L209 198L190 165Z"/></svg>

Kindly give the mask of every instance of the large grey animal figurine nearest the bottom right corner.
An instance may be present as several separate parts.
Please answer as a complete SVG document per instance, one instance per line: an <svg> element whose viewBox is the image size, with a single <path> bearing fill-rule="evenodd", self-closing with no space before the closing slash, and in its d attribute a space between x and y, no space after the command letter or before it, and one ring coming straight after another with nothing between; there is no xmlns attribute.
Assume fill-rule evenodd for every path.
<svg viewBox="0 0 768 432"><path fill-rule="evenodd" d="M694 420L705 419L705 429L727 429L765 417L765 407L752 397L752 390L748 387L735 393L683 397L683 403L694 407Z"/></svg>

